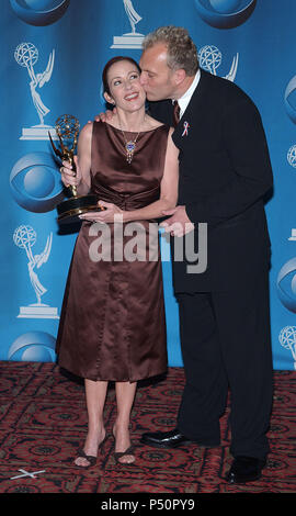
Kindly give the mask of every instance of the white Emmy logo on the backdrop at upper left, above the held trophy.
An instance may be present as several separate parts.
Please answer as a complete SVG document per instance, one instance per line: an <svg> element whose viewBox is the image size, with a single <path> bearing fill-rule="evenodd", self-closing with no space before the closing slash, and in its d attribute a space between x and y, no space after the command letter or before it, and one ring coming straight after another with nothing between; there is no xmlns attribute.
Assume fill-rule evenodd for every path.
<svg viewBox="0 0 296 516"><path fill-rule="evenodd" d="M31 79L30 90L32 100L39 117L38 125L23 128L20 139L48 139L48 131L52 132L52 137L57 139L54 127L44 124L44 117L49 113L50 110L43 103L37 91L45 85L45 82L50 80L55 63L55 51L50 53L47 67L43 74L35 74L34 71L34 65L38 60L38 49L35 47L35 45L33 45L33 43L21 43L15 48L14 58L18 65L27 69L29 77Z"/></svg>

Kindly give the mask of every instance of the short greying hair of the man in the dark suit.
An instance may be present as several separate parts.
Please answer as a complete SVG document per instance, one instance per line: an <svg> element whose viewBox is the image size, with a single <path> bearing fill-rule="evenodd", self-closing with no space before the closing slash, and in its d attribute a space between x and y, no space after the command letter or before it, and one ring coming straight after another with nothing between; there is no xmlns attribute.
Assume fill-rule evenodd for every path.
<svg viewBox="0 0 296 516"><path fill-rule="evenodd" d="M164 43L168 47L169 68L172 70L183 68L191 77L196 74L197 49L186 29L174 25L160 26L145 37L143 49L146 51L158 43Z"/></svg>

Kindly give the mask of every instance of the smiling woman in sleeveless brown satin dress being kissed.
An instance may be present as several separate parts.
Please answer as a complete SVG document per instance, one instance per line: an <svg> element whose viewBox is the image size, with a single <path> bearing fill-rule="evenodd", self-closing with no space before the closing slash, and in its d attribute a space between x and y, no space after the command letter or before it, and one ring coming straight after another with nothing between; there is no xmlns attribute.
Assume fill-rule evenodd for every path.
<svg viewBox="0 0 296 516"><path fill-rule="evenodd" d="M139 76L139 67L130 58L107 63L104 97L116 105L116 114L112 122L93 122L82 128L76 177L68 164L61 168L65 184L76 184L78 194L95 192L104 207L81 215L57 337L58 363L86 383L88 436L76 459L84 468L95 463L105 439L103 408L109 381L115 382L117 402L115 459L132 463L129 416L137 381L167 370L158 232L151 236L149 228L156 227L151 223L163 211L175 206L178 149L172 128L146 113ZM118 218L115 223L114 216ZM102 227L107 228L105 239ZM145 244L141 258L133 260L133 229L137 227L144 229ZM106 254L100 259L105 244ZM153 257L149 259L151 245Z"/></svg>

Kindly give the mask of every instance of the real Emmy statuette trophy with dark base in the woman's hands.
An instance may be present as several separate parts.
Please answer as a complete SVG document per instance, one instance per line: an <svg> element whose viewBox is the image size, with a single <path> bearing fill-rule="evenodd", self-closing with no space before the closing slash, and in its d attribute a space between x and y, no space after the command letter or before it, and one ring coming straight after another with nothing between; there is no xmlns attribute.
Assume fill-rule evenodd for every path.
<svg viewBox="0 0 296 516"><path fill-rule="evenodd" d="M59 116L56 121L56 133L60 149L55 146L50 133L48 132L52 147L56 156L62 161L69 161L71 164L73 173L76 173L73 156L79 134L79 121L70 114ZM71 224L80 221L79 215L82 213L101 211L98 206L98 198L95 194L78 195L76 187L70 186L68 189L71 191L72 195L57 205L57 220L59 224Z"/></svg>

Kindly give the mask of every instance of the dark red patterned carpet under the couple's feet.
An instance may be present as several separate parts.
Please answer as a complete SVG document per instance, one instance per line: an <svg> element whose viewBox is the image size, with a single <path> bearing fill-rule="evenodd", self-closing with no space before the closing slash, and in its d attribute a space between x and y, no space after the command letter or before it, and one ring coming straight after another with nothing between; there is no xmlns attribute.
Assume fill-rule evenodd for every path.
<svg viewBox="0 0 296 516"><path fill-rule="evenodd" d="M174 451L139 446L136 463L116 465L113 439L105 442L98 464L73 464L87 431L83 385L53 363L0 362L0 493L295 493L296 372L274 372L274 405L269 433L272 452L262 479L231 486L223 478L229 468L227 408L221 418L221 446L195 445ZM171 429L183 388L183 369L171 368L160 382L140 385L133 410L134 442L145 430ZM105 406L109 433L115 419L114 389ZM43 471L23 476L19 470ZM25 473L24 473L25 474Z"/></svg>

